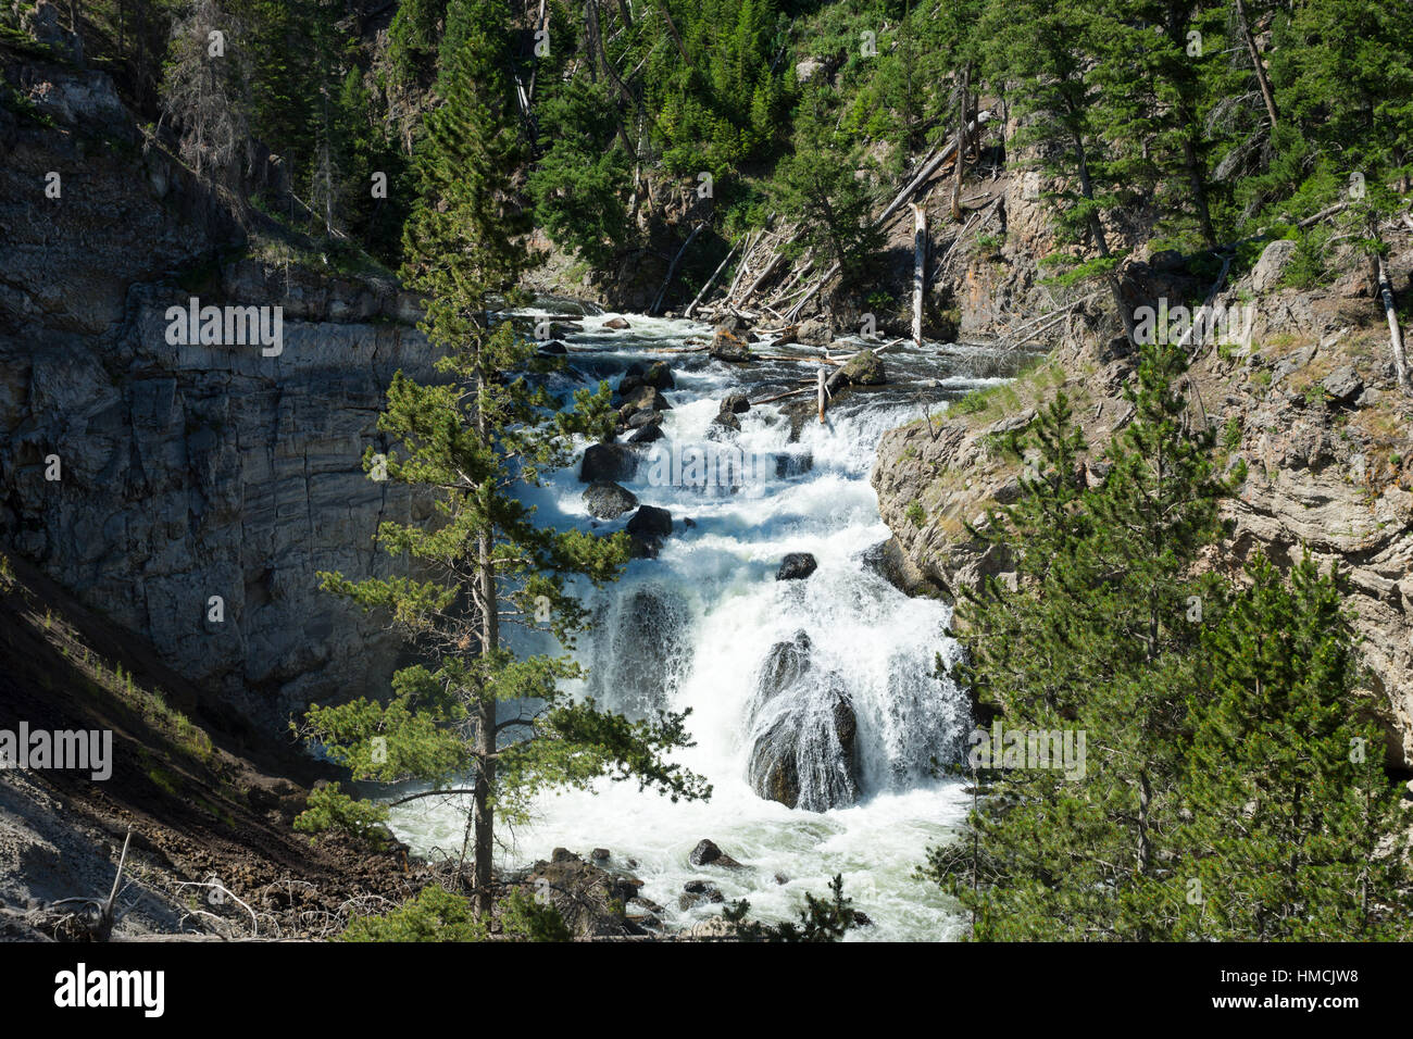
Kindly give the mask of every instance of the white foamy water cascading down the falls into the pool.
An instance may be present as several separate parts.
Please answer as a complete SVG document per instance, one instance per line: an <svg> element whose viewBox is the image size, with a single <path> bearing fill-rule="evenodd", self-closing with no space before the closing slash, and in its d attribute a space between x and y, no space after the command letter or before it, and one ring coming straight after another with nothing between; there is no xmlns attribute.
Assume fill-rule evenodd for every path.
<svg viewBox="0 0 1413 1039"><path fill-rule="evenodd" d="M808 365L733 368L702 353L661 353L709 329L627 314L632 328L609 332L601 329L609 317L585 318L584 332L567 339L575 375L555 389L567 393L601 375L616 382L633 360L666 359L677 386L666 394L673 410L657 450L712 444L708 425L732 390L760 399L812 376ZM945 605L907 598L869 561L869 551L889 537L869 471L885 430L921 417L924 406L935 410L944 393L995 379L958 375L927 353L889 353L886 360L894 377L930 376L928 400L855 394L827 424L810 417L798 442L790 442L780 411L788 401L753 407L740 416L733 442L747 458L763 459L755 466L763 478L735 491L654 485L649 465L639 466L636 479L620 481L642 503L668 509L674 532L658 558L633 561L616 585L588 597L598 623L577 653L591 670L582 691L630 717L691 708L697 746L677 759L706 776L714 794L673 804L633 783L605 782L593 794L544 796L530 827L503 834L503 867L548 858L555 847L584 855L606 847L610 868L642 878L643 895L664 908L670 926L721 912L719 905L678 908L691 879L709 879L728 900L746 898L753 916L776 920L794 917L804 892L825 895L829 878L842 874L845 893L876 924L855 940L957 936L954 906L935 885L913 878L926 850L948 840L966 810L961 786L935 779L931 769L934 761L958 759L969 727L965 695L934 677L935 654L955 659L957 647L942 635ZM584 488L575 466L531 500L547 523L622 529L627 515L608 523L588 516ZM800 551L812 553L818 570L804 581L777 581L781 558ZM773 647L801 632L807 673L764 695L762 671ZM841 695L856 720L852 770L825 724ZM811 744L805 758L818 765L821 783L832 777L835 793L852 786L853 803L787 809L752 789L752 751L781 720L786 731L818 729L818 746ZM801 775L803 789L812 776ZM418 802L397 811L394 828L418 850L458 848L461 818L449 807ZM746 868L688 865L704 837Z"/></svg>

